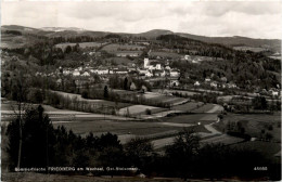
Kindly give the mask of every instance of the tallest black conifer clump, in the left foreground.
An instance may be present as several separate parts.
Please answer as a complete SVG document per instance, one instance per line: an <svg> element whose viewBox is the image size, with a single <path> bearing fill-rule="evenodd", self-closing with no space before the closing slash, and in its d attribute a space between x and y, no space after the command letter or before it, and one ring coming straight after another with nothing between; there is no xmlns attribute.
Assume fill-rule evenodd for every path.
<svg viewBox="0 0 282 182"><path fill-rule="evenodd" d="M22 125L22 126L21 126ZM22 135L18 134L22 128ZM15 118L7 130L9 138L8 153L12 160L12 167L17 162L17 167L46 167L48 166L49 153L53 150L54 132L50 119L43 115L41 105L38 108L25 109L22 118ZM21 158L18 165L17 151L22 138ZM35 150L36 146L36 150ZM51 152L52 153L52 152Z"/></svg>

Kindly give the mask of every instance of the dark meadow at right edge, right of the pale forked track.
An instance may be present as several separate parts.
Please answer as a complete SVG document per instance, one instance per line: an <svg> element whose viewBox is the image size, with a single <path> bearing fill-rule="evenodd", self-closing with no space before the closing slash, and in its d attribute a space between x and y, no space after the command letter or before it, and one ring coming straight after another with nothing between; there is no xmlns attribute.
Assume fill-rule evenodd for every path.
<svg viewBox="0 0 282 182"><path fill-rule="evenodd" d="M259 138L261 130L265 133L270 133L274 141L281 142L281 116L280 113L273 115L256 114L228 114L223 116L223 120L216 123L218 130L223 130L228 122L242 122L245 128L245 133L253 138ZM270 127L271 126L271 127ZM271 129L272 128L272 129Z"/></svg>

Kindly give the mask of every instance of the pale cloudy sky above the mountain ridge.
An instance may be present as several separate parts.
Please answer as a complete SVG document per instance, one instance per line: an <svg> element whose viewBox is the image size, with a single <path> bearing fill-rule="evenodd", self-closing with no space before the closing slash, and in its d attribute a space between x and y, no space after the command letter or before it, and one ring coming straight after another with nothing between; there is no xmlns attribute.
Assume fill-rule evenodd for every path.
<svg viewBox="0 0 282 182"><path fill-rule="evenodd" d="M282 1L3 1L1 25L282 39Z"/></svg>

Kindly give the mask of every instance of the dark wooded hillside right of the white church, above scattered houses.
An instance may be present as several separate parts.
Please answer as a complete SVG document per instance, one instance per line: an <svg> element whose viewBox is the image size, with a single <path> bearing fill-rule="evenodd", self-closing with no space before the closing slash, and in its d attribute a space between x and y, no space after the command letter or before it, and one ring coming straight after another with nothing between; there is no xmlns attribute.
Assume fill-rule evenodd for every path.
<svg viewBox="0 0 282 182"><path fill-rule="evenodd" d="M174 66L182 73L193 73L192 75L195 76L216 73L219 77L225 76L228 80L233 80L241 88L259 86L269 89L280 84L280 61L269 58L262 53L235 51L221 44L206 43L176 35L159 36L157 42L170 51L214 57L214 62L203 63L201 67L185 62L175 62ZM219 58L221 61L217 61Z"/></svg>

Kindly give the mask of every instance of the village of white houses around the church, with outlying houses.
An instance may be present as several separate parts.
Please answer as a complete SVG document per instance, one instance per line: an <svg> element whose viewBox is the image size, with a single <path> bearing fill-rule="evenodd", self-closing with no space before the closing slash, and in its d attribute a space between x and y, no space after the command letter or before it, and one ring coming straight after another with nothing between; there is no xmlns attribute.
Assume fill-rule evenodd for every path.
<svg viewBox="0 0 282 182"><path fill-rule="evenodd" d="M93 53L90 52L89 55L92 55ZM150 54L150 53L149 53ZM117 54L119 56L119 54ZM123 55L120 56L137 56L134 52L128 53L123 52ZM138 55L139 56L139 55ZM201 58L191 58L190 55L184 55L181 57L181 61L187 61L192 64L196 64L201 66L201 62L203 60ZM86 82L94 81L93 76L97 75L103 82L108 81L110 76L117 76L120 78L125 77L131 77L131 78L138 78L145 81L149 81L151 84L154 83L154 81L157 80L168 80L166 81L167 84L165 88L179 88L180 90L187 90L187 89L200 89L202 87L213 90L222 90L222 89L235 89L239 90L240 88L236 86L235 82L232 80L227 80L227 77L220 77L216 80L213 79L215 77L215 74L210 74L210 76L206 76L205 79L201 80L191 80L192 82L190 84L181 84L180 78L184 77L184 79L190 79L188 74L184 74L184 76L181 76L181 73L178 68L174 68L169 66L169 63L171 63L171 60L165 60L165 57L155 56L153 58L150 58L150 55L143 58L142 66L138 66L136 63L128 64L128 65L116 65L116 66L99 66L94 67L93 62L90 61L90 63L87 63L82 66L79 66L77 68L67 68L67 67L59 67L52 73L46 74L46 73L39 73L37 72L35 76L42 76L42 77L51 77L56 78L55 82L57 86L62 84L63 77L72 77L76 80L76 84L78 87L82 87ZM133 83L133 82L132 82ZM134 84L134 83L133 83ZM132 86L131 88L136 88L136 86ZM132 89L134 90L134 89ZM256 95L268 95L278 98L281 95L281 91L279 91L279 88L270 88L269 90L266 89L256 89L254 94Z"/></svg>

